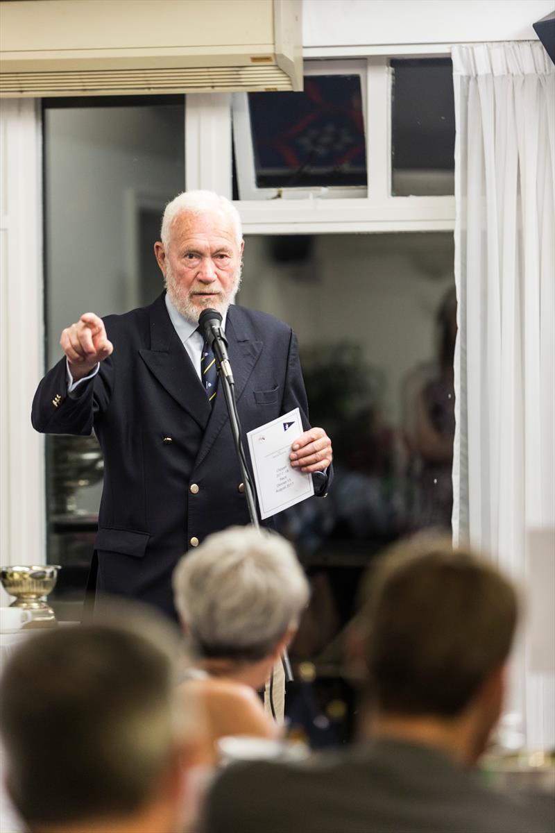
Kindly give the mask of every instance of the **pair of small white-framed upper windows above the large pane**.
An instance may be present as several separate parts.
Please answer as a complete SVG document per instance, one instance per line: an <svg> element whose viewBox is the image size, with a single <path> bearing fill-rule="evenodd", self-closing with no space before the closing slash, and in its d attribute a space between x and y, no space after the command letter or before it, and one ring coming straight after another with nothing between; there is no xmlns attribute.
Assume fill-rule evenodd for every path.
<svg viewBox="0 0 555 833"><path fill-rule="evenodd" d="M232 112L245 232L453 229L448 57L307 61L305 92L238 93Z"/></svg>

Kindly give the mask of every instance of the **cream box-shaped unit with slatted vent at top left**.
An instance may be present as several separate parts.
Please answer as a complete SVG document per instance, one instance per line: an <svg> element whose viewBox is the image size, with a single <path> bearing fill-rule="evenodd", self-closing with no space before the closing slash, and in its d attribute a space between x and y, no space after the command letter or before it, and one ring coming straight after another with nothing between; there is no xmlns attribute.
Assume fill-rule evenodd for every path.
<svg viewBox="0 0 555 833"><path fill-rule="evenodd" d="M302 90L301 0L0 3L0 97Z"/></svg>

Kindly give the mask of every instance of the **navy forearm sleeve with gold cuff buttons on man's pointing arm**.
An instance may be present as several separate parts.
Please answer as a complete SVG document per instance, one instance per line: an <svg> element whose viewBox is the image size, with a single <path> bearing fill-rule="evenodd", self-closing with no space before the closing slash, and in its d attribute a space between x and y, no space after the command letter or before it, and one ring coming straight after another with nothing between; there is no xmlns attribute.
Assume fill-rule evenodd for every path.
<svg viewBox="0 0 555 833"><path fill-rule="evenodd" d="M110 403L112 387L113 365L108 357L94 378L68 393L66 358L62 358L37 387L31 411L33 428L42 434L88 436Z"/></svg>

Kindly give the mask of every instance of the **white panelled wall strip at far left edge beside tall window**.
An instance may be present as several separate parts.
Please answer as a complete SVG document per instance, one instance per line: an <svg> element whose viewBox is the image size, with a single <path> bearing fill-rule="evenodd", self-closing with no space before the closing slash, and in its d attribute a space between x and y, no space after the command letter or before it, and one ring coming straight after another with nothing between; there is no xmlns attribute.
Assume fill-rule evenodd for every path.
<svg viewBox="0 0 555 833"><path fill-rule="evenodd" d="M0 110L0 565L46 561L44 452L31 402L42 376L40 115ZM13 601L10 599L9 601ZM8 597L0 591L0 605Z"/></svg>

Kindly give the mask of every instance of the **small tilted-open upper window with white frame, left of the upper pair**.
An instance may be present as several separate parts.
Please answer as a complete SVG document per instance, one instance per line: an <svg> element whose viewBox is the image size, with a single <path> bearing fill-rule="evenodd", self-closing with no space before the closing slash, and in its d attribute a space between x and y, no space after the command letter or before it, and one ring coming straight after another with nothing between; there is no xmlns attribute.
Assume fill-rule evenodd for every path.
<svg viewBox="0 0 555 833"><path fill-rule="evenodd" d="M360 64L306 69L304 92L233 97L240 199L364 197L365 73Z"/></svg>

